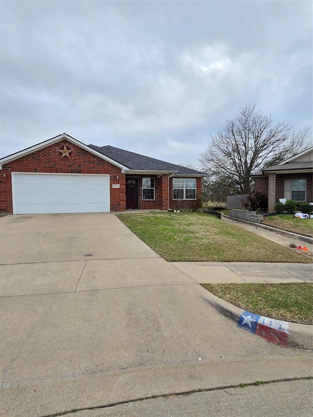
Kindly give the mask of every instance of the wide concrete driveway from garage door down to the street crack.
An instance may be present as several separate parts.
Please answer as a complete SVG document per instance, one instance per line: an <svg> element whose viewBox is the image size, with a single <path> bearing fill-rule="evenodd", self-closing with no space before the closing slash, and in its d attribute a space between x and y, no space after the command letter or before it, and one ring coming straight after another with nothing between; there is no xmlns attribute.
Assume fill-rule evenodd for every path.
<svg viewBox="0 0 313 417"><path fill-rule="evenodd" d="M306 377L311 354L238 329L112 214L0 219L0 416Z"/></svg>

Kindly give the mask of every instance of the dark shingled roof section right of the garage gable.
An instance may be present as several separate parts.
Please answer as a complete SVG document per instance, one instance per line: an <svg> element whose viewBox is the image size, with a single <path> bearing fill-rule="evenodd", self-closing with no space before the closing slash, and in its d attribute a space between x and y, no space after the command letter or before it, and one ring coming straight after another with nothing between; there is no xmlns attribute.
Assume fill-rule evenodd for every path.
<svg viewBox="0 0 313 417"><path fill-rule="evenodd" d="M175 175L205 176L205 174L200 171L161 161L159 159L151 158L150 156L135 154L134 152L115 148L114 146L88 146L101 154L109 156L114 161L123 164L132 171L170 171L175 173Z"/></svg>

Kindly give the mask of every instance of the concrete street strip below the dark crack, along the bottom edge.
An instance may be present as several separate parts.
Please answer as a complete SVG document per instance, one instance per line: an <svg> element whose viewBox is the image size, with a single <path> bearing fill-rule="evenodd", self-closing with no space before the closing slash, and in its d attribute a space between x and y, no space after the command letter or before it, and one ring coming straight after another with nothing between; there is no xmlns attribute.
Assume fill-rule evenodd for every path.
<svg viewBox="0 0 313 417"><path fill-rule="evenodd" d="M78 411L75 417L312 417L312 405L308 406L312 384L312 380L302 379L161 396ZM73 413L65 417L73 417Z"/></svg>

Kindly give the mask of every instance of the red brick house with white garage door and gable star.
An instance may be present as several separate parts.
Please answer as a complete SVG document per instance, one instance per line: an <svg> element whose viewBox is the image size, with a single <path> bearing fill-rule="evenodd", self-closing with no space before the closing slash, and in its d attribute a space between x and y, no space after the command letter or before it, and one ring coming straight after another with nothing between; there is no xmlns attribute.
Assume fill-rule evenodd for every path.
<svg viewBox="0 0 313 417"><path fill-rule="evenodd" d="M194 208L205 174L66 133L0 159L0 212Z"/></svg>

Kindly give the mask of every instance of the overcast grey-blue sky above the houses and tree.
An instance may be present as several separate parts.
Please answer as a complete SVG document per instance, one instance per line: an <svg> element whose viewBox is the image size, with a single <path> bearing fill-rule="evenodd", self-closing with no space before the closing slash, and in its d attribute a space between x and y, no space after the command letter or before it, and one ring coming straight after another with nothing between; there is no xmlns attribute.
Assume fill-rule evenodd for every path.
<svg viewBox="0 0 313 417"><path fill-rule="evenodd" d="M247 102L312 129L311 1L1 1L1 156L60 133L199 164Z"/></svg>

